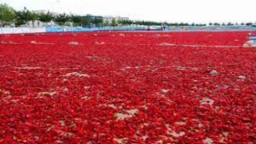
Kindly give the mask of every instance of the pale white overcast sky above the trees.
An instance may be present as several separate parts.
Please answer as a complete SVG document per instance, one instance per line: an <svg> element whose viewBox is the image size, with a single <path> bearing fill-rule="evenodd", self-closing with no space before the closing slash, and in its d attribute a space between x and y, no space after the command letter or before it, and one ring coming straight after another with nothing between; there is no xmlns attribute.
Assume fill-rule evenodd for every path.
<svg viewBox="0 0 256 144"><path fill-rule="evenodd" d="M256 0L0 0L15 9L120 15L160 22L256 22Z"/></svg>

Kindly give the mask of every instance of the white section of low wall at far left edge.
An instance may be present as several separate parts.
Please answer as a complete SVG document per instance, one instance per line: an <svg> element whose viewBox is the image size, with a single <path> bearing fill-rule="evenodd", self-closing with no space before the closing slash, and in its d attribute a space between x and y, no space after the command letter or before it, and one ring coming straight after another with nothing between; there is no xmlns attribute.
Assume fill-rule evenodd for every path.
<svg viewBox="0 0 256 144"><path fill-rule="evenodd" d="M28 28L28 27L3 27L0 28L0 34L22 34L22 33L45 33L45 27Z"/></svg>

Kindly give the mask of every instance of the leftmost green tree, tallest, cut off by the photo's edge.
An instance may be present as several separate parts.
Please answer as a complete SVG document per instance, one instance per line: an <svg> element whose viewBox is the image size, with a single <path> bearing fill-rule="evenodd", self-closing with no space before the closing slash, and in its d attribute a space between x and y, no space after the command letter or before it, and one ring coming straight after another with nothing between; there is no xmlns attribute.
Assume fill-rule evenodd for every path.
<svg viewBox="0 0 256 144"><path fill-rule="evenodd" d="M7 4L0 4L0 26L10 25L10 22L14 22L14 18L14 9Z"/></svg>

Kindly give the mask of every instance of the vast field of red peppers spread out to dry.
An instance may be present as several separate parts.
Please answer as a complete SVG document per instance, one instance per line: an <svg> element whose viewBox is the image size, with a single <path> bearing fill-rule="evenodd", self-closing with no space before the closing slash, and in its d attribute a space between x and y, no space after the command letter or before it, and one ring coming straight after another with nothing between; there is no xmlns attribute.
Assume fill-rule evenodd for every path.
<svg viewBox="0 0 256 144"><path fill-rule="evenodd" d="M254 143L249 32L0 35L0 143Z"/></svg>

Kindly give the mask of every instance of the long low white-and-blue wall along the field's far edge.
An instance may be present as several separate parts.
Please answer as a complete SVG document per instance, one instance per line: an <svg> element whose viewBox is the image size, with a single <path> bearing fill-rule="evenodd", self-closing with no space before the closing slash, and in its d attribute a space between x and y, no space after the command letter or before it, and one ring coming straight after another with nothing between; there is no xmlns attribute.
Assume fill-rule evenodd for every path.
<svg viewBox="0 0 256 144"><path fill-rule="evenodd" d="M39 28L15 27L0 28L0 34L21 33L44 33L44 32L82 32L97 30L162 30L161 26L122 26L122 27L66 27L46 26ZM170 26L166 31L233 31L233 30L255 30L256 26Z"/></svg>

